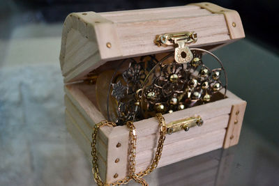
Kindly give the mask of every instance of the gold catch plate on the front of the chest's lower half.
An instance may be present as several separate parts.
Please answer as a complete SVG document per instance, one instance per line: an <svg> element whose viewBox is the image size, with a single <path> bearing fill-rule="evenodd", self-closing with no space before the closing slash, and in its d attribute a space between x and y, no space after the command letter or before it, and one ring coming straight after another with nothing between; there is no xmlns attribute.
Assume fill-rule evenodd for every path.
<svg viewBox="0 0 279 186"><path fill-rule="evenodd" d="M172 134L180 130L188 131L191 127L202 126L204 121L200 116L192 116L190 118L181 119L167 124L167 134Z"/></svg>

